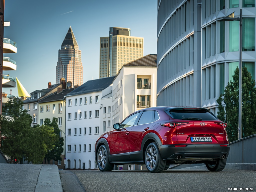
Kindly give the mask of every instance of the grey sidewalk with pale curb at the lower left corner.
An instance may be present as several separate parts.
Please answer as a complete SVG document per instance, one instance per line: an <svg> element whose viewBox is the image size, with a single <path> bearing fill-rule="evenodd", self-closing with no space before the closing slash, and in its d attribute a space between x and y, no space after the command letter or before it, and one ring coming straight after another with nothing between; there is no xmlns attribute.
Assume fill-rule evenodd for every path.
<svg viewBox="0 0 256 192"><path fill-rule="evenodd" d="M0 191L62 192L57 165L0 164Z"/></svg>

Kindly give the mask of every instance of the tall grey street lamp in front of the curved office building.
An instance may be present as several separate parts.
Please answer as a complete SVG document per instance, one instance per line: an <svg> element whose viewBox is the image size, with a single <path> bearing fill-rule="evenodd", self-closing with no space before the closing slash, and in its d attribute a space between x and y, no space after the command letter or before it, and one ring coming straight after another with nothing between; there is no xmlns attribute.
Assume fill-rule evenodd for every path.
<svg viewBox="0 0 256 192"><path fill-rule="evenodd" d="M242 138L242 9L240 17L234 17L234 12L222 19L223 21L239 21L239 98L238 98L238 140Z"/></svg>

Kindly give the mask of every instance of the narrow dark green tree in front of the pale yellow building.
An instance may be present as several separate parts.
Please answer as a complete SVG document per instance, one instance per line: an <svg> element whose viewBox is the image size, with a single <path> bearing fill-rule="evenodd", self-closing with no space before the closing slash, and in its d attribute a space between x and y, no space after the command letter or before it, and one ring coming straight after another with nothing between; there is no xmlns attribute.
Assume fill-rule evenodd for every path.
<svg viewBox="0 0 256 192"><path fill-rule="evenodd" d="M63 137L60 137L60 129L58 127L58 119L52 118L52 122L49 118L45 119L44 121L45 125L49 125L54 128L54 133L56 135L54 147L52 150L48 150L48 153L45 155L45 159L47 160L48 164L50 163L50 160L53 159L54 161L61 161L61 153L63 152L63 145L64 145L64 139Z"/></svg>

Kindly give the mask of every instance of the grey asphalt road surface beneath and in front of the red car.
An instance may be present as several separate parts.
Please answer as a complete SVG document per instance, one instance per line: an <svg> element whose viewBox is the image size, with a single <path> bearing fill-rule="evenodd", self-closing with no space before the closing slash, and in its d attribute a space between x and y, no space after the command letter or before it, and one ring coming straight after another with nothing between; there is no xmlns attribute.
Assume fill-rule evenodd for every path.
<svg viewBox="0 0 256 192"><path fill-rule="evenodd" d="M256 171L224 169L167 170L150 173L147 170L72 171L86 192L92 191L230 191L229 188L253 188L256 191Z"/></svg>

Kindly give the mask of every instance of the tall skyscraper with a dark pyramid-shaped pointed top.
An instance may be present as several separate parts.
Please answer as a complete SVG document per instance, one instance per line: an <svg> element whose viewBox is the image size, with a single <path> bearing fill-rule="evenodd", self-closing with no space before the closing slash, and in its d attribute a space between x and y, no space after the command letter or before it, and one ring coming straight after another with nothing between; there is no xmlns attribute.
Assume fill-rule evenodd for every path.
<svg viewBox="0 0 256 192"><path fill-rule="evenodd" d="M83 84L83 66L81 61L81 50L71 26L59 49L59 57L56 66L56 83L64 78L66 82L71 81L72 87Z"/></svg>

